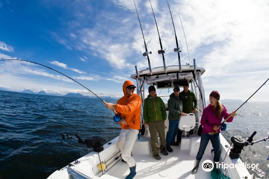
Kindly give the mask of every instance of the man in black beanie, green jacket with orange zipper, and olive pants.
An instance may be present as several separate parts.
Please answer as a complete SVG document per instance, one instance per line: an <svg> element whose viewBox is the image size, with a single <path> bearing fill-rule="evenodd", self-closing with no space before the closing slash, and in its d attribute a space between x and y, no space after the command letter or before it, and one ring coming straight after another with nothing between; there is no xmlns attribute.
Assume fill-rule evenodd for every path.
<svg viewBox="0 0 269 179"><path fill-rule="evenodd" d="M144 101L143 117L145 125L149 126L151 138L151 148L153 157L161 159L159 149L163 155L168 155L166 151L166 141L164 134L164 121L166 120L166 109L163 100L156 95L154 86L149 87L149 95ZM159 133L161 147L158 145L157 132Z"/></svg>

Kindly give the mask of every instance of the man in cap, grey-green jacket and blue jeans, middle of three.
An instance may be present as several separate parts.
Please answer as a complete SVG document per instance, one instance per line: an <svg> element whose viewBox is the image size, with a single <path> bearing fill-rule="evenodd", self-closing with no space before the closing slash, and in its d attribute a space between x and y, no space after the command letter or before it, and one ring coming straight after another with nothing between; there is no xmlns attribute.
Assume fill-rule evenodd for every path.
<svg viewBox="0 0 269 179"><path fill-rule="evenodd" d="M182 101L179 98L179 87L174 87L174 92L169 96L168 100L168 120L169 120L169 129L166 134L166 150L168 152L173 152L171 148L171 142L175 141L175 136L178 134L178 123L181 116L186 114L182 112Z"/></svg>

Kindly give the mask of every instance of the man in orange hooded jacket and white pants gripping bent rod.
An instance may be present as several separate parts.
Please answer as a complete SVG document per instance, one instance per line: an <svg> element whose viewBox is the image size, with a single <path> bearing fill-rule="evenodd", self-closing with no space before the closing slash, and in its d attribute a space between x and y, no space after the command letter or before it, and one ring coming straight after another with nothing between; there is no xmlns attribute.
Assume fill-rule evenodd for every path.
<svg viewBox="0 0 269 179"><path fill-rule="evenodd" d="M108 109L114 108L120 116L121 131L118 139L118 147L122 152L122 158L130 168L130 174L126 179L132 179L136 175L136 162L131 155L134 143L140 130L141 103L139 95L134 94L135 84L132 81L123 83L124 96L117 104L107 103Z"/></svg>

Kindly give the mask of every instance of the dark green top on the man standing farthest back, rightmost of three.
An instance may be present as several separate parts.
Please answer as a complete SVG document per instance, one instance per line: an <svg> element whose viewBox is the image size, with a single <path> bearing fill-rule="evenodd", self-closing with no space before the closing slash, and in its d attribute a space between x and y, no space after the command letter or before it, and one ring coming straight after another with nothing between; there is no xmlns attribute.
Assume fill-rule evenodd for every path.
<svg viewBox="0 0 269 179"><path fill-rule="evenodd" d="M195 107L197 108L197 99L194 92L190 90L188 92L182 91L179 93L179 98L182 100L184 113L189 114Z"/></svg>

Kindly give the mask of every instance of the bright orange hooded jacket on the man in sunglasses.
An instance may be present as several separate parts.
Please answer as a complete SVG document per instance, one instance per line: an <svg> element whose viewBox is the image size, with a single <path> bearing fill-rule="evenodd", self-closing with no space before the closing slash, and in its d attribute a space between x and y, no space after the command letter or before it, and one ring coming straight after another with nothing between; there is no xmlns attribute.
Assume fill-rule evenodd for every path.
<svg viewBox="0 0 269 179"><path fill-rule="evenodd" d="M120 124L122 129L140 129L141 117L141 103L142 100L139 95L132 93L131 96L126 94L126 87L135 85L132 81L125 81L123 83L124 96L117 101L114 109L120 115L121 119L126 119L128 124Z"/></svg>

